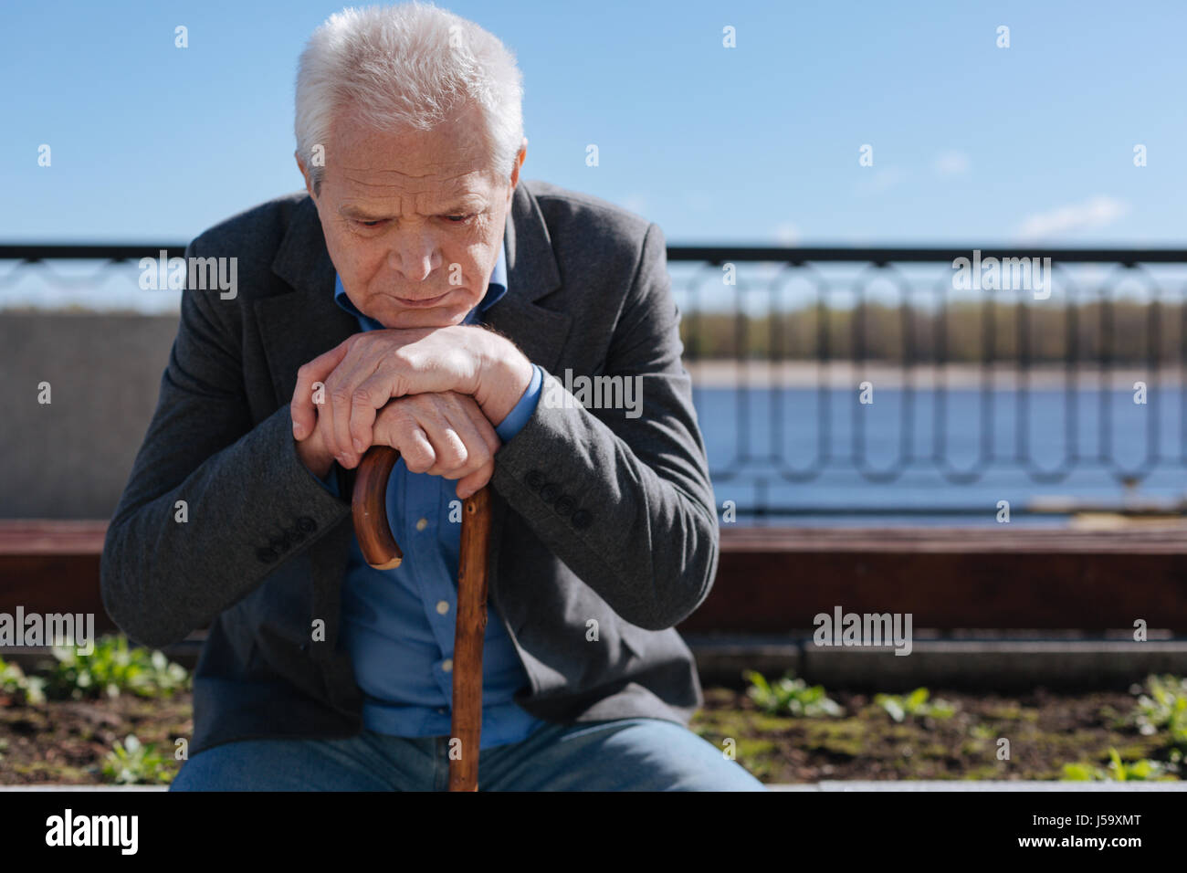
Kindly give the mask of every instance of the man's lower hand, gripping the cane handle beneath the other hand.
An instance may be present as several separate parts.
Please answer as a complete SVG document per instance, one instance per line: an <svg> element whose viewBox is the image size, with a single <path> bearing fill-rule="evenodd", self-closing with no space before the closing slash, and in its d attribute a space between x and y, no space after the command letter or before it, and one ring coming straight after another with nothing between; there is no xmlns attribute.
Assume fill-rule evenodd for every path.
<svg viewBox="0 0 1187 873"><path fill-rule="evenodd" d="M297 441L298 457L319 479L335 461L324 438L328 420L319 416L313 432ZM376 416L374 434L375 444L399 450L410 473L459 480L463 500L494 475L499 436L469 394L444 391L391 400Z"/></svg>

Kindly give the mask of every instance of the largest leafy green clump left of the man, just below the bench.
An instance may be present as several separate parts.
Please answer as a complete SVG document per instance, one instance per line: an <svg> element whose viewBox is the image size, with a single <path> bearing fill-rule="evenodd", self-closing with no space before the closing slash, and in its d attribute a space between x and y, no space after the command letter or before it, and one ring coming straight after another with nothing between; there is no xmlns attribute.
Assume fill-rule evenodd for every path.
<svg viewBox="0 0 1187 873"><path fill-rule="evenodd" d="M188 687L189 673L164 653L128 646L122 634L103 637L90 654L77 646L55 646L57 664L47 678L55 698L119 697L129 691L140 697L172 696Z"/></svg>

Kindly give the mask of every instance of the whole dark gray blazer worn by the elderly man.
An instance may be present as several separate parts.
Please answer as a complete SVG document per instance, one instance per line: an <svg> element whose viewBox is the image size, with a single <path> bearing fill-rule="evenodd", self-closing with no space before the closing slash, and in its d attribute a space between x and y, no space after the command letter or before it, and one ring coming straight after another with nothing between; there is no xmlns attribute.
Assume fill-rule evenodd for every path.
<svg viewBox="0 0 1187 873"><path fill-rule="evenodd" d="M709 594L718 529L664 235L605 201L521 181L507 249L509 291L489 327L548 380L642 377L640 417L541 397L495 455L490 620L531 678L516 702L552 722L687 725L704 698L673 626ZM157 411L107 533L103 603L150 646L209 624L191 752L355 735L362 694L337 651L350 506L298 458L288 401L297 368L357 322L334 302L305 194L207 230L186 257L237 258L239 292L183 292ZM338 472L349 494L353 474Z"/></svg>

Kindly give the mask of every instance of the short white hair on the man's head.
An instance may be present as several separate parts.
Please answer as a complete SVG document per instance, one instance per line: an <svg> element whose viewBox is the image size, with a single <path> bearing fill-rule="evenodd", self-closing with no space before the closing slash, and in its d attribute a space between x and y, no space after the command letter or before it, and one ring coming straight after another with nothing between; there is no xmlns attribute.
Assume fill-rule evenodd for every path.
<svg viewBox="0 0 1187 873"><path fill-rule="evenodd" d="M523 139L522 102L515 56L474 21L415 1L345 8L301 52L297 150L320 194L324 166L311 158L336 113L357 110L377 129L431 131L469 105L485 121L491 170L509 179Z"/></svg>

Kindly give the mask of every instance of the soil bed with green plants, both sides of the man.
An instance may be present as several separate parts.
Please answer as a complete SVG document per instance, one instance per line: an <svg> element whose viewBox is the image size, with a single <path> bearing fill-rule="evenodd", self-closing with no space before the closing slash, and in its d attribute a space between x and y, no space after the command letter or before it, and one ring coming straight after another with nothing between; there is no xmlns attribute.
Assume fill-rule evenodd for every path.
<svg viewBox="0 0 1187 873"><path fill-rule="evenodd" d="M691 729L761 780L1179 779L1187 681L1016 696L827 690L748 672L706 688ZM0 660L0 783L165 784L192 728L190 676L160 652L104 638L26 675ZM728 742L729 741L729 742Z"/></svg>

